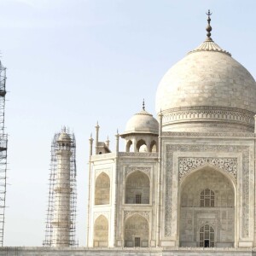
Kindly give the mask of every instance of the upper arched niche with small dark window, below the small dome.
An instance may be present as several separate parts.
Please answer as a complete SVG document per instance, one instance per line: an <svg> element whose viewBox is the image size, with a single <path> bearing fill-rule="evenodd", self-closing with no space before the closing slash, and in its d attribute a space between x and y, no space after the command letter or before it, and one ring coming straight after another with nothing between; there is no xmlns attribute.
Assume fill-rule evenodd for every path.
<svg viewBox="0 0 256 256"><path fill-rule="evenodd" d="M135 171L125 181L126 204L149 204L150 181L148 175Z"/></svg>

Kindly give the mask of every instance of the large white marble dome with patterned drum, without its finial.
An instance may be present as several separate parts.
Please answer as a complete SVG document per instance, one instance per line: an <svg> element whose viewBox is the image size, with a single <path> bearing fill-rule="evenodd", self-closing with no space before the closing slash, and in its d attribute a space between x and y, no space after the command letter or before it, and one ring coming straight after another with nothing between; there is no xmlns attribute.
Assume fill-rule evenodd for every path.
<svg viewBox="0 0 256 256"><path fill-rule="evenodd" d="M161 79L156 112L164 131L253 131L253 76L211 38Z"/></svg>

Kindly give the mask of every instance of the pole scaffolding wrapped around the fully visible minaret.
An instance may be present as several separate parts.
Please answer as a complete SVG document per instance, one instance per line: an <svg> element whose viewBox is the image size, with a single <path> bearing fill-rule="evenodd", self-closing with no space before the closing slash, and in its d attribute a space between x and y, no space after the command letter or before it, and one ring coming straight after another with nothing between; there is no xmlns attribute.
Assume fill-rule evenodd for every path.
<svg viewBox="0 0 256 256"><path fill-rule="evenodd" d="M65 129L66 131L66 129ZM66 189L66 198L69 196L69 220L68 220L68 238L63 239L63 241L58 241L59 246L60 243L63 243L63 246L69 246L69 247L77 247L78 242L76 241L76 205L77 205L77 188L76 188L76 143L75 143L75 137L73 133L70 133L69 131L66 131L67 135L70 137L70 144L68 145L68 149L70 150L70 156L68 156L68 165L67 168L69 169L68 174L69 178L67 178L67 181L62 181L62 184L60 185L60 180L58 181L58 152L60 151L60 143L59 138L61 136L60 133L56 133L55 137L53 138L53 141L51 143L51 160L50 160L50 173L49 173L49 204L48 209L46 213L46 229L45 229L45 238L43 241L43 245L45 247L55 247L56 241L55 241L55 211L57 207L61 207L61 204L63 204L62 200L59 200L59 193L60 189L62 193L65 193L65 188L69 187L69 189ZM64 145L64 144L62 144ZM64 160L65 162L65 160ZM64 166L65 169L65 166ZM67 184L68 183L68 184ZM64 189L63 189L64 188ZM64 192L63 192L64 190ZM62 215L60 215L62 216ZM57 220L58 223L64 222L63 219L65 217L58 217ZM67 220L65 220L67 221ZM61 231L66 232L66 227L58 227L58 229L62 229ZM67 241L65 241L67 240Z"/></svg>

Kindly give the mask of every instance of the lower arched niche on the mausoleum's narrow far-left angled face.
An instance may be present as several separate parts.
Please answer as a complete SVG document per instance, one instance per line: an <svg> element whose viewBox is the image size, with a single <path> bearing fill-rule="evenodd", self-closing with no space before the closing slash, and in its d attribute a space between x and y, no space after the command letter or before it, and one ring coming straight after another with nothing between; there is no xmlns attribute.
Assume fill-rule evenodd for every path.
<svg viewBox="0 0 256 256"><path fill-rule="evenodd" d="M108 247L108 219L100 215L94 223L94 247Z"/></svg>

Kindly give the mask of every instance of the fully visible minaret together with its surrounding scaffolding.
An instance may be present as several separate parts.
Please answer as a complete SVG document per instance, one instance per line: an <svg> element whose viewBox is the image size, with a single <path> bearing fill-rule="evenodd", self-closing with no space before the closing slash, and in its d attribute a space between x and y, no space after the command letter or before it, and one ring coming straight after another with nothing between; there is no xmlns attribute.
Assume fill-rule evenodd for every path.
<svg viewBox="0 0 256 256"><path fill-rule="evenodd" d="M51 144L49 205L44 246L74 247L76 222L76 143L64 128Z"/></svg>

